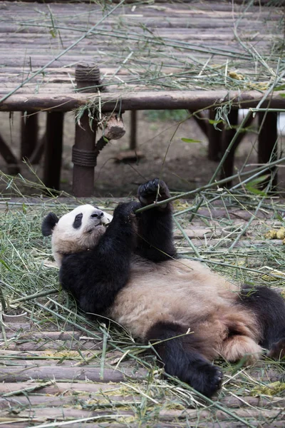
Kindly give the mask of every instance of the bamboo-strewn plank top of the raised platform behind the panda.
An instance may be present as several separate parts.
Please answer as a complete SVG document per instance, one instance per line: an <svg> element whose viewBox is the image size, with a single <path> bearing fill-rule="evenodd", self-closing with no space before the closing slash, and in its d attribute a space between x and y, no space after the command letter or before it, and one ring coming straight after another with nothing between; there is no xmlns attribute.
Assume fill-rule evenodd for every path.
<svg viewBox="0 0 285 428"><path fill-rule="evenodd" d="M17 95L76 97L74 69L82 61L98 64L103 85L117 96L217 91L212 101L222 89L264 91L277 68L283 70L281 7L228 1L123 4L107 16L117 6L2 2L0 97L33 75Z"/></svg>

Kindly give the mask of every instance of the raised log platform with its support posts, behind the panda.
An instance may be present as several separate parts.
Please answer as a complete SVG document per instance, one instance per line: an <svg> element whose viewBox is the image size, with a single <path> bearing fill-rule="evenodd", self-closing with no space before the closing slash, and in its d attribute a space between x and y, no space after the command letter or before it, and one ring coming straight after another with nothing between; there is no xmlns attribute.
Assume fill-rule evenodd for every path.
<svg viewBox="0 0 285 428"><path fill-rule="evenodd" d="M261 4L1 2L0 111L24 112L21 158L36 162L45 151L43 181L58 189L63 112L76 110L73 193L90 196L100 151L95 132L104 128L105 113L185 108L207 133L209 158L217 161L237 129L238 108L285 106L284 9L280 2ZM89 67L83 75L81 64ZM217 106L222 110L216 118ZM45 139L37 145L38 111L49 114ZM258 162L267 163L276 158L277 113L258 114ZM221 117L232 126L224 141L213 131ZM239 141L224 161L224 176L232 175ZM0 151L11 171L19 172L1 137Z"/></svg>

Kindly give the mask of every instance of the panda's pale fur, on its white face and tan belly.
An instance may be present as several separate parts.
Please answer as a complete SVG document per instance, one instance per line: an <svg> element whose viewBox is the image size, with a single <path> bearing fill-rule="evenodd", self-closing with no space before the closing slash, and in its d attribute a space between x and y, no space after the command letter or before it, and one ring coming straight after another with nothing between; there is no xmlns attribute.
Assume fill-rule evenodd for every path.
<svg viewBox="0 0 285 428"><path fill-rule="evenodd" d="M90 218L95 208L82 205L58 221L53 230L53 255L61 264L61 253L92 248L105 228ZM83 223L73 228L76 214ZM90 233L90 229L92 232ZM244 354L259 357L259 325L254 313L239 304L239 287L212 272L209 267L189 259L161 263L133 256L130 279L118 292L108 316L144 340L155 322L173 322L185 331L203 337L209 360L222 355L229 361ZM229 335L234 329L237 335Z"/></svg>

